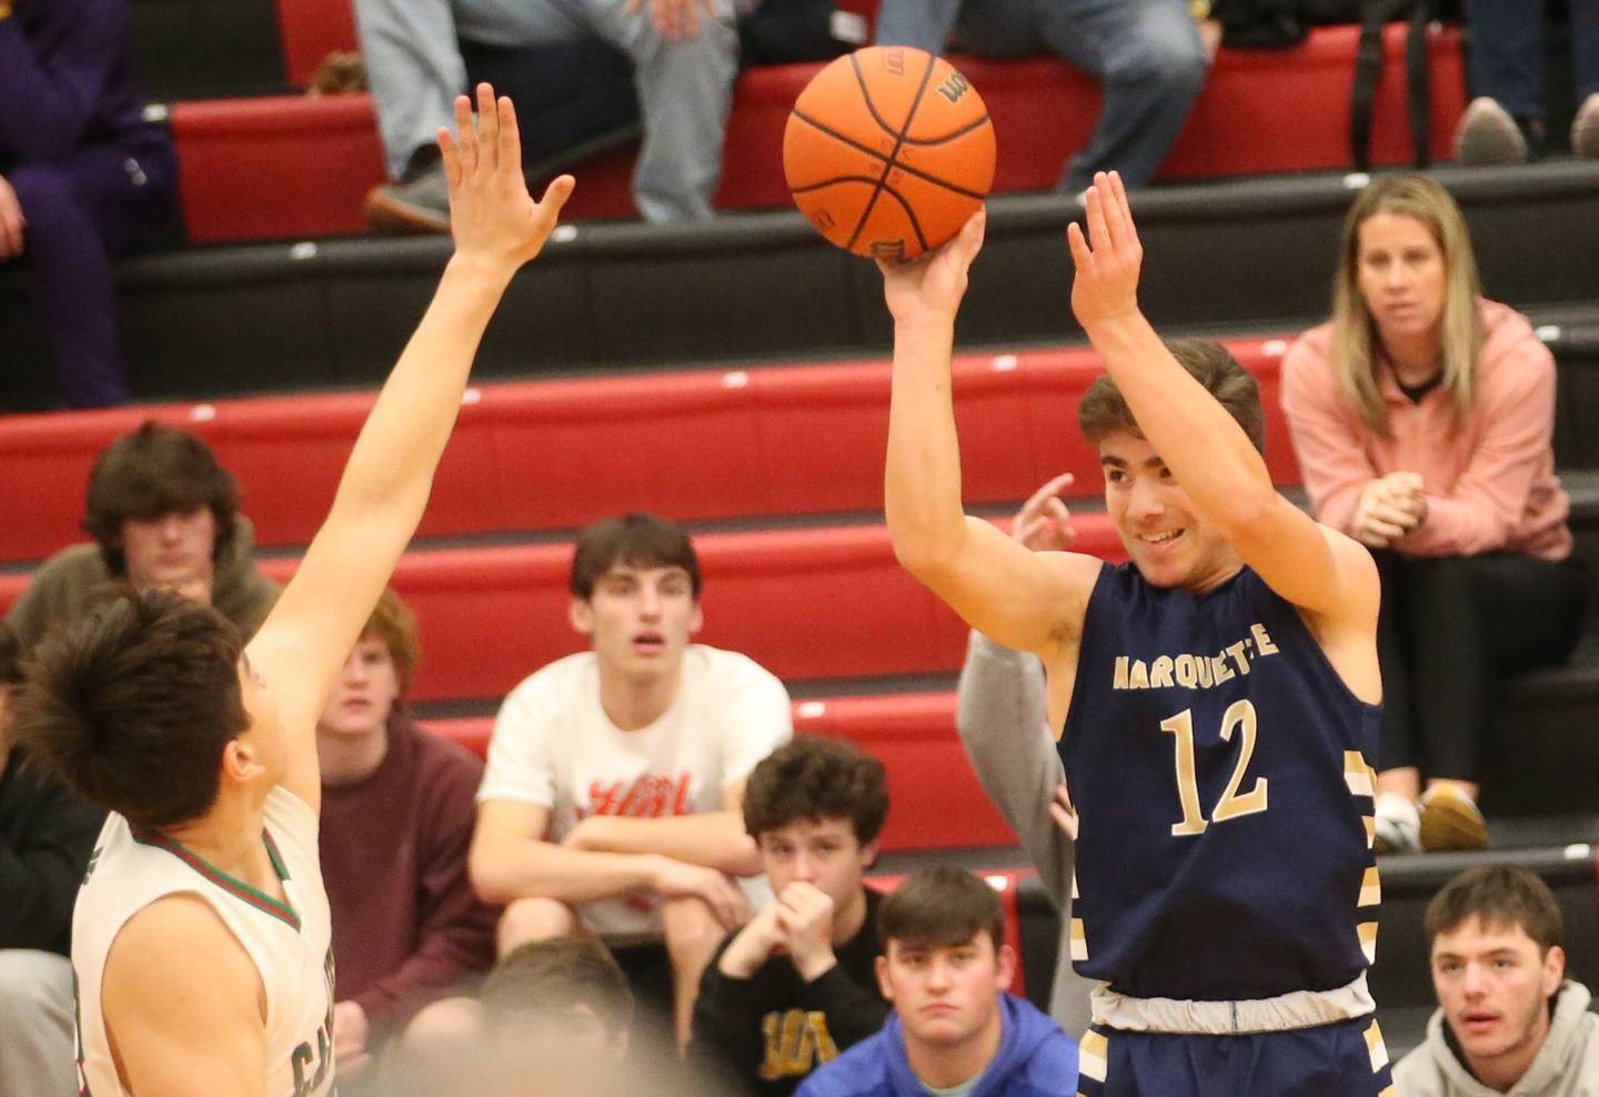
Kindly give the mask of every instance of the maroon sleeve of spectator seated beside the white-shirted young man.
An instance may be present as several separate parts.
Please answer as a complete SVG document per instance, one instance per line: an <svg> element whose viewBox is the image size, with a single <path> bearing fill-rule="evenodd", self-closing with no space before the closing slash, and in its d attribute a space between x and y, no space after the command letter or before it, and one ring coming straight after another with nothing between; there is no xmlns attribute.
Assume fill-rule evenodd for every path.
<svg viewBox="0 0 1599 1097"><path fill-rule="evenodd" d="M438 771L421 793L425 830L419 835L417 947L355 1003L371 1025L376 1047L424 1006L462 991L462 982L494 963L497 912L484 907L467 876L477 788L473 768Z"/></svg>

